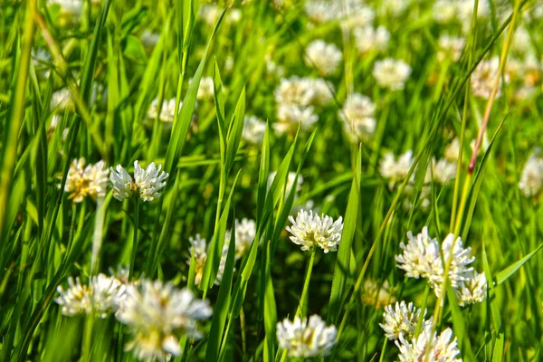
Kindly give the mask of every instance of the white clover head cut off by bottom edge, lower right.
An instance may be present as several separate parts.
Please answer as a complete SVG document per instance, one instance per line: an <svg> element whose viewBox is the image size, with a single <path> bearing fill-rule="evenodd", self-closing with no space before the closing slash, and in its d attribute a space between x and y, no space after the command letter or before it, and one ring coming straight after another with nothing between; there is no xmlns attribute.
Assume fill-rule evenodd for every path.
<svg viewBox="0 0 543 362"><path fill-rule="evenodd" d="M395 344L400 348L400 362L462 362L458 349L456 338L451 341L452 330L445 329L437 337L436 333L432 335L432 329L424 329L418 338L406 340L404 336L399 336L399 341ZM430 350L426 348L430 346Z"/></svg>

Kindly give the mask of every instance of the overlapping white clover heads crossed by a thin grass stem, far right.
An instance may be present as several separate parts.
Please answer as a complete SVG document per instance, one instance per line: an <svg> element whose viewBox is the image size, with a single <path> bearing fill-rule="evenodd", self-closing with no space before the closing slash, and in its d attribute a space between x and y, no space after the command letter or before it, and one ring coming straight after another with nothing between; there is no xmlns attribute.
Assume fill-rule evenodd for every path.
<svg viewBox="0 0 543 362"><path fill-rule="evenodd" d="M449 233L440 248L437 239L431 238L428 228L424 226L422 233L415 237L409 232L407 238L409 242L406 245L400 243L403 252L395 255L397 266L405 271L406 277L427 279L439 297L443 292L445 265L450 262L448 280L456 291L459 304L472 304L484 300L486 282L481 280L484 274L473 270L470 265L475 261L472 248L464 249L460 237L455 238L454 234ZM463 299L464 297L467 298Z"/></svg>

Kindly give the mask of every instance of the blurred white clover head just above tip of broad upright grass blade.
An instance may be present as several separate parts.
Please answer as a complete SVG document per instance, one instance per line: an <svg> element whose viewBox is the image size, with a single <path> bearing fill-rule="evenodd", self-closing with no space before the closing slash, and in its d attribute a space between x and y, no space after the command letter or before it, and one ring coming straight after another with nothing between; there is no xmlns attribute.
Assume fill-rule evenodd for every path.
<svg viewBox="0 0 543 362"><path fill-rule="evenodd" d="M368 97L354 93L338 110L338 118L343 121L343 129L349 138L367 140L376 131L375 112L376 105Z"/></svg>

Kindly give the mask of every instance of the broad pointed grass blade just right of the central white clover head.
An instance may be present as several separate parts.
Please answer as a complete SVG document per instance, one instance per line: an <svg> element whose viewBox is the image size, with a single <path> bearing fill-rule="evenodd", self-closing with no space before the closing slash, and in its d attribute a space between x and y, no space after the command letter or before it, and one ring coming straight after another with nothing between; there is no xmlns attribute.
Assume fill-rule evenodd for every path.
<svg viewBox="0 0 543 362"><path fill-rule="evenodd" d="M351 254L351 245L357 230L358 204L360 197L360 179L362 177L361 148L357 152L357 169L353 175L353 182L348 195L347 210L345 212L345 223L341 233L338 257L332 277L332 290L330 291L328 322L338 322L339 311L345 298L345 286L348 280L348 269Z"/></svg>

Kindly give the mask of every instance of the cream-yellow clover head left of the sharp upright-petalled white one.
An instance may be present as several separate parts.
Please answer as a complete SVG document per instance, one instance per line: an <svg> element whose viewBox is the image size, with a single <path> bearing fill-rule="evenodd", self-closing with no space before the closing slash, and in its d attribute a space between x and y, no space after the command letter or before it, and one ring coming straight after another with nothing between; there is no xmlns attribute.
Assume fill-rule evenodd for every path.
<svg viewBox="0 0 543 362"><path fill-rule="evenodd" d="M64 192L70 193L68 198L74 203L81 203L87 196L92 198L105 196L108 189L110 170L106 167L106 163L100 161L85 167L85 162L84 157L74 159L66 177Z"/></svg>

